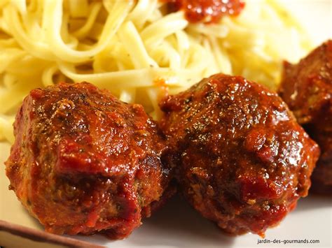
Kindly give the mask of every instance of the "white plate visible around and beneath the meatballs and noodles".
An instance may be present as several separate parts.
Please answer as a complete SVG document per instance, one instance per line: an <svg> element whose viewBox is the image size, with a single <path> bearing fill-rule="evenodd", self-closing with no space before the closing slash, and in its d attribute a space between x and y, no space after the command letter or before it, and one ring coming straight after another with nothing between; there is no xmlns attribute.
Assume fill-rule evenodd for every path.
<svg viewBox="0 0 332 248"><path fill-rule="evenodd" d="M282 0L311 34L315 45L332 38L332 0ZM0 143L0 164L8 156L8 145ZM13 191L8 191L4 166L0 170L0 220L42 230L20 205ZM101 235L72 236L107 247L331 247L332 200L309 196L298 202L282 224L265 233L265 242L258 235L230 237L212 222L202 218L191 207L175 197L125 240L111 241ZM289 244L291 240L318 240L314 244ZM263 240L264 241L264 240ZM279 242L279 243L278 243ZM1 245L1 240L0 240Z"/></svg>

